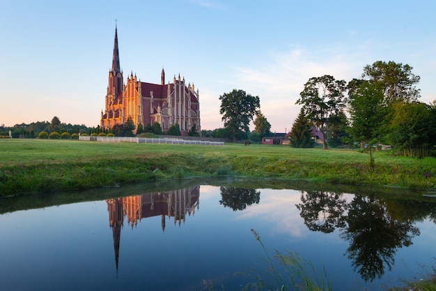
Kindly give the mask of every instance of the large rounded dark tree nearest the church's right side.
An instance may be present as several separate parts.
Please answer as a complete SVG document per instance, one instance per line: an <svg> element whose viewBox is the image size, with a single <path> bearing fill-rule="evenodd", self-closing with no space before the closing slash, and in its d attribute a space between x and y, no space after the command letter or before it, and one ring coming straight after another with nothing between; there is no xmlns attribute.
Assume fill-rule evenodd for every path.
<svg viewBox="0 0 436 291"><path fill-rule="evenodd" d="M236 142L238 136L249 132L249 123L260 108L260 99L243 90L233 89L230 93L219 96L219 100L221 100L219 114L223 115L221 120L233 137L233 142Z"/></svg>

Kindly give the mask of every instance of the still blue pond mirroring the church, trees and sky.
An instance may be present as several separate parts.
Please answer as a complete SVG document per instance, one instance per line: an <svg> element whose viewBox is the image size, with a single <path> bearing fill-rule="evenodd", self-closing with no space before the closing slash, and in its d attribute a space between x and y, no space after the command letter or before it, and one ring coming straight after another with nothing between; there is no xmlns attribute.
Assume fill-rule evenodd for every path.
<svg viewBox="0 0 436 291"><path fill-rule="evenodd" d="M387 290L435 263L436 198L222 185L0 200L0 290L241 290L240 273L268 278L265 250L325 269L333 290Z"/></svg>

